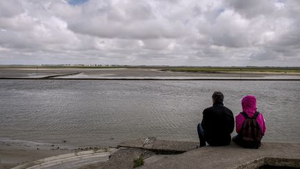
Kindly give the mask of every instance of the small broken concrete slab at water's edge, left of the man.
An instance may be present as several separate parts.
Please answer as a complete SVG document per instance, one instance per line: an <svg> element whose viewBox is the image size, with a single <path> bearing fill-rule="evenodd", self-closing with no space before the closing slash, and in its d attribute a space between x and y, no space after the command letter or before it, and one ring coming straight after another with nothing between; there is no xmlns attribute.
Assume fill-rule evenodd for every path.
<svg viewBox="0 0 300 169"><path fill-rule="evenodd" d="M151 137L145 139L127 140L119 143L118 147L142 148L158 154L179 154L194 150L198 145L199 143L176 140L159 140L155 137Z"/></svg>

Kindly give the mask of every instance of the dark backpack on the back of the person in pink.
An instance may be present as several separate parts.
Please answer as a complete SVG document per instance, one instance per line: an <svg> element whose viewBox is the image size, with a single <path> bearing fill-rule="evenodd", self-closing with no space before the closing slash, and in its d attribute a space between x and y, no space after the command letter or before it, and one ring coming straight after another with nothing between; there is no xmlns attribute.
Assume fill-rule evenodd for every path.
<svg viewBox="0 0 300 169"><path fill-rule="evenodd" d="M256 121L259 113L256 111L252 118L249 118L249 116L245 112L241 112L241 114L245 118L244 124L242 125L242 129L239 134L239 137L242 140L241 145L244 148L258 149L258 147L260 147L261 145L260 140L263 138L262 130L260 129L260 126Z"/></svg>

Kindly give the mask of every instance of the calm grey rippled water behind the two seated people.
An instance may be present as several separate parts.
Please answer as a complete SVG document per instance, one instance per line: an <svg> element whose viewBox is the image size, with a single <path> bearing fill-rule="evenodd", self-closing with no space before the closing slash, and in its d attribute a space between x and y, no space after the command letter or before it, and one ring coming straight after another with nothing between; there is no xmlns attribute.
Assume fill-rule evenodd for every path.
<svg viewBox="0 0 300 169"><path fill-rule="evenodd" d="M263 140L300 143L300 81L0 80L0 137L78 146L148 136L198 141L214 90L235 115L244 95L256 95Z"/></svg>

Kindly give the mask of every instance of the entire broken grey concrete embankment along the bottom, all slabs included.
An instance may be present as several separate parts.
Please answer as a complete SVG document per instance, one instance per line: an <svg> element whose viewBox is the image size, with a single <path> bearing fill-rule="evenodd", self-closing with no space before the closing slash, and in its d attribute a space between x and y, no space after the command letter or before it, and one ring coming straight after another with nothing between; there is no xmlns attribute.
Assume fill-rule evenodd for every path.
<svg viewBox="0 0 300 169"><path fill-rule="evenodd" d="M196 148L197 145L156 138L135 139L120 143L121 148L112 152L85 151L53 156L17 168L133 168L138 156L144 159L144 166L140 168L239 169L264 165L300 168L300 144L297 143L263 143L257 150L244 149L235 143L222 147ZM173 154L162 155L165 153Z"/></svg>

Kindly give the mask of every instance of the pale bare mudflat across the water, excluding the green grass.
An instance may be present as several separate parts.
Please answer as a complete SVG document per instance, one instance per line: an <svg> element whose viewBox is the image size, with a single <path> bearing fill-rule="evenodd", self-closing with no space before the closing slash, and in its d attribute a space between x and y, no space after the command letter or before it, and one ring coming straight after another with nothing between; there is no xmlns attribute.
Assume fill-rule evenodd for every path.
<svg viewBox="0 0 300 169"><path fill-rule="evenodd" d="M64 78L105 77L299 77L298 72L172 72L151 68L0 68L2 78L40 78L59 74L76 74Z"/></svg>

